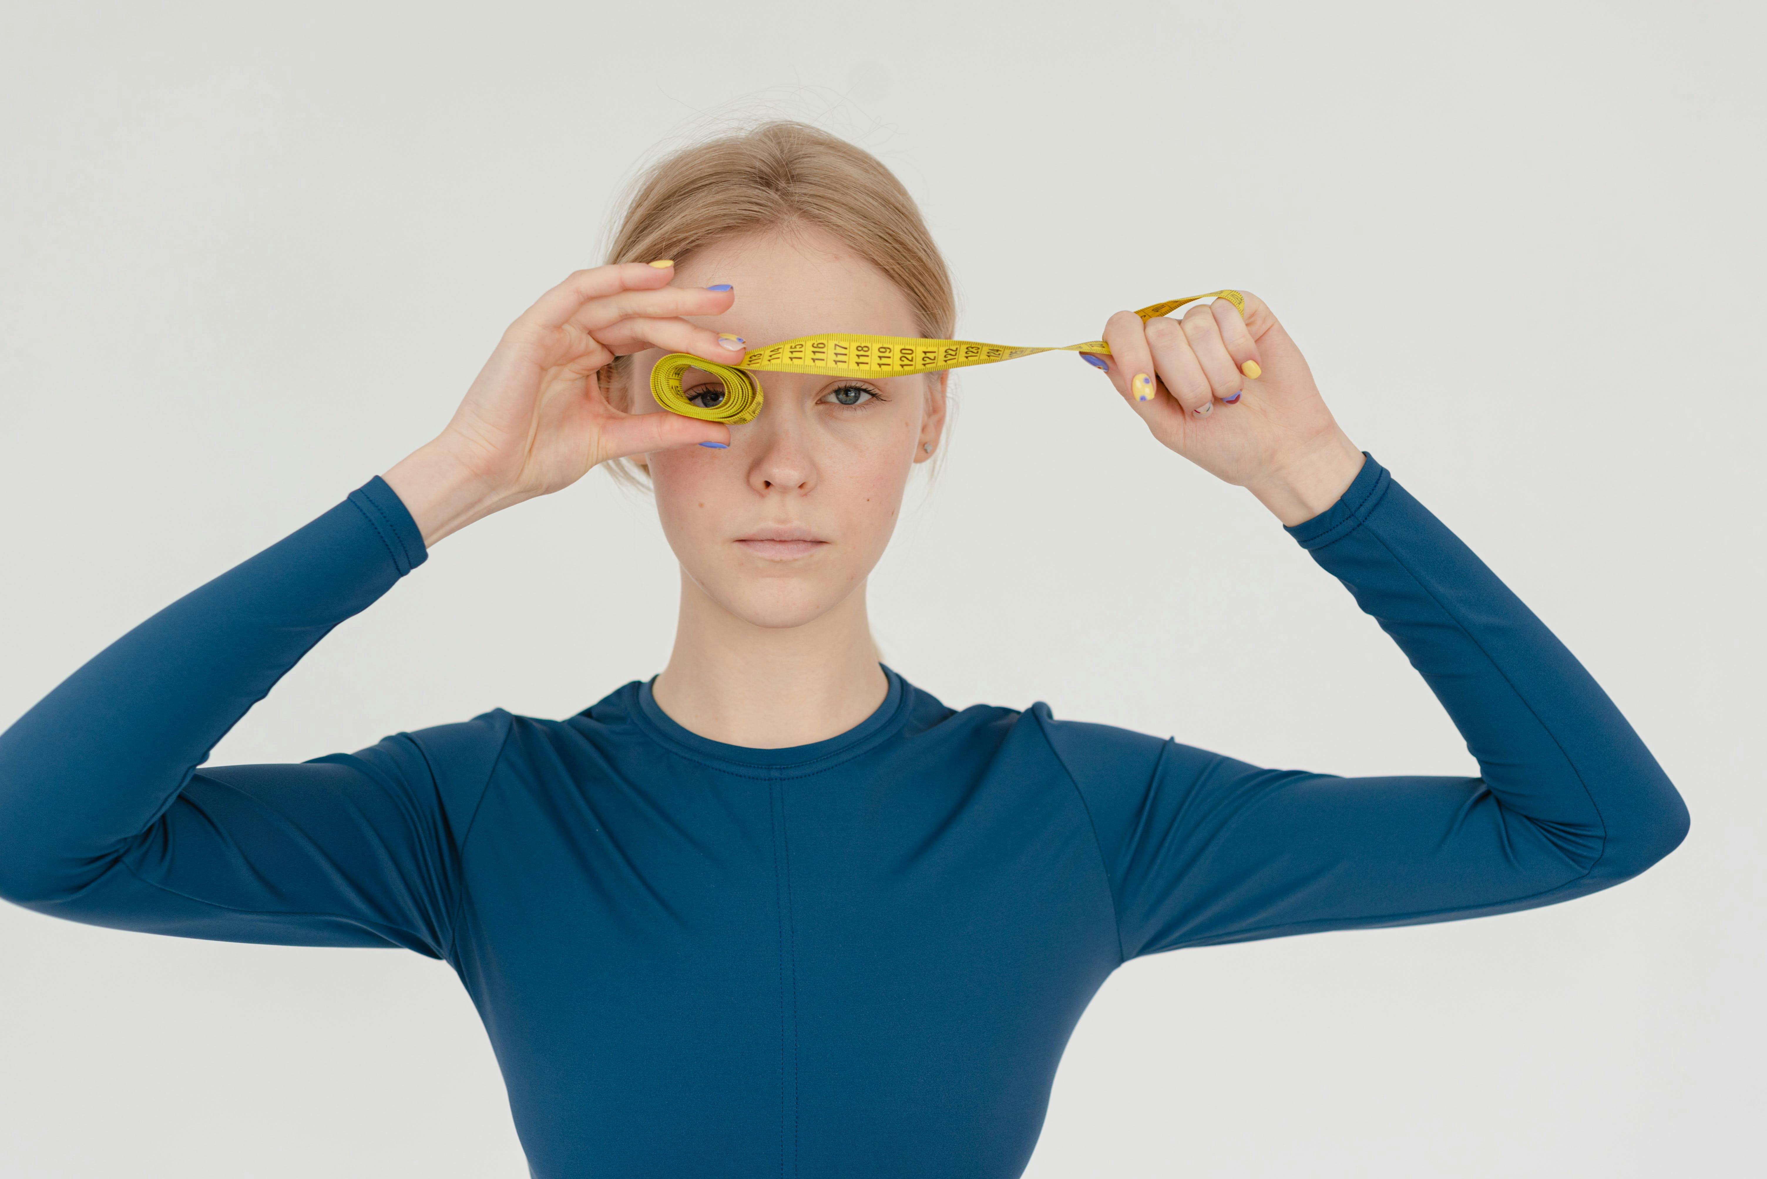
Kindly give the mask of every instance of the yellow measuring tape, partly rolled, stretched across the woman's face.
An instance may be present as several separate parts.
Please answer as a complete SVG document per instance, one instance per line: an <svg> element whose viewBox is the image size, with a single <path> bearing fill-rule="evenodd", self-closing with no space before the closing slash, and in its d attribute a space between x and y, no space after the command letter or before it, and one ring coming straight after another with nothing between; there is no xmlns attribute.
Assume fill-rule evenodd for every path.
<svg viewBox="0 0 1767 1179"><path fill-rule="evenodd" d="M1184 304L1198 298L1225 298L1240 314L1246 314L1246 298L1239 291L1209 291L1189 298L1173 298L1152 307L1141 307L1141 321L1157 319ZM889 378L914 376L917 372L940 372L944 369L963 369L975 364L998 364L1018 360L1039 351L1080 351L1094 357L1108 357L1110 346L1104 341L1087 341L1085 344L1066 344L1062 348L1012 348L1009 344L979 344L975 341L928 341L905 335L800 335L795 341L755 348L742 357L742 364L714 364L684 351L675 351L656 362L650 369L650 395L670 413L707 422L753 422L762 411L762 387L755 372L811 372L820 376L861 376ZM724 385L724 394L710 406L696 406L687 401L680 388L680 374L698 369L716 376ZM705 390L710 394L712 390Z"/></svg>

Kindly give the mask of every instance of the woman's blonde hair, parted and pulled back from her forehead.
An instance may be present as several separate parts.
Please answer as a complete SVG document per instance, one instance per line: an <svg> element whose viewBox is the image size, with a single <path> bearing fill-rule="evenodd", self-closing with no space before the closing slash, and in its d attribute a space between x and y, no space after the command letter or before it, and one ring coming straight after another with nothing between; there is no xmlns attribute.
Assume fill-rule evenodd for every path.
<svg viewBox="0 0 1767 1179"><path fill-rule="evenodd" d="M705 139L648 166L631 185L608 244L608 261L677 261L693 251L767 229L822 229L876 267L908 298L921 334L947 339L956 293L945 259L908 189L875 155L793 120L770 120ZM631 357L601 374L622 404ZM938 455L944 455L944 447ZM606 464L613 478L645 485L641 466Z"/></svg>

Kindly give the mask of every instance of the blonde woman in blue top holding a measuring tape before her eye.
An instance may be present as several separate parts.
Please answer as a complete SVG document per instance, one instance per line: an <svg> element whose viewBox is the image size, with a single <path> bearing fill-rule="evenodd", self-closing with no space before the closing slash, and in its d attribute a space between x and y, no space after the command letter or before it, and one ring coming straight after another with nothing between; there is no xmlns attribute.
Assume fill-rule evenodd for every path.
<svg viewBox="0 0 1767 1179"><path fill-rule="evenodd" d="M405 946L458 971L532 1174L1016 1175L1124 960L1509 912L1668 854L1673 785L1581 665L1359 452L1255 297L1110 319L1104 376L1251 491L1442 701L1481 777L1262 770L880 665L866 575L945 374L763 374L721 425L664 353L949 337L896 178L797 124L636 191L613 263L504 334L447 429L99 653L0 738L0 891L94 925ZM673 259L673 261L670 261ZM684 388L716 404L703 372ZM488 711L209 766L444 537L608 464L680 559L668 664L569 720Z"/></svg>

